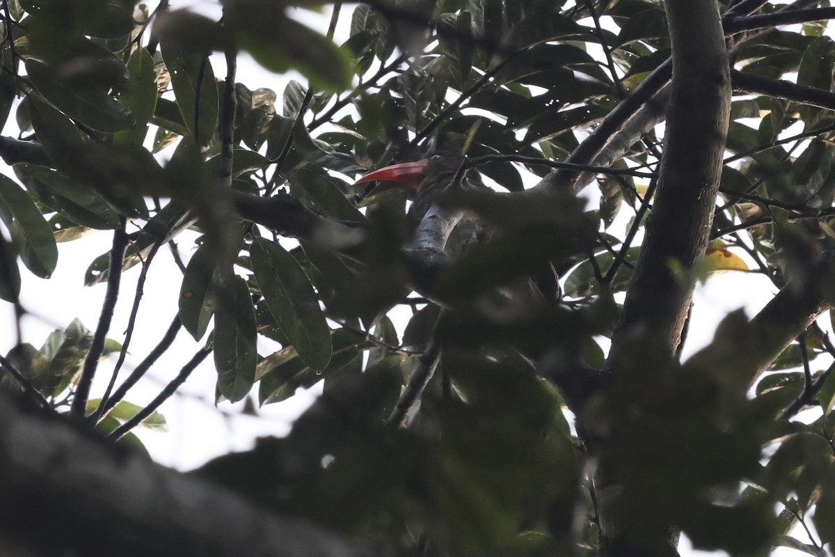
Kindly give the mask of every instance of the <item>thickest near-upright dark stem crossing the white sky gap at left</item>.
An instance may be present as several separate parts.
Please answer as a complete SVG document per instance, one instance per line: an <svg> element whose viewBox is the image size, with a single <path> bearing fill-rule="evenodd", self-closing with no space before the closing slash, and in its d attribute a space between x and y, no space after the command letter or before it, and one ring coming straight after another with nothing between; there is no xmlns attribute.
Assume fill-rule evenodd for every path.
<svg viewBox="0 0 835 557"><path fill-rule="evenodd" d="M99 325L96 327L93 342L90 343L87 356L84 357L81 377L78 379L75 397L69 408L70 415L76 419L84 418L84 412L87 409L87 400L90 396L90 387L93 385L96 368L99 367L99 357L104 352L104 342L110 329L110 322L113 320L116 300L119 299L119 283L122 279L124 250L128 246L128 235L125 232L126 222L124 216L119 216L119 228L114 230L113 246L110 248L107 292L104 295L104 303L102 304L102 311L99 315Z"/></svg>

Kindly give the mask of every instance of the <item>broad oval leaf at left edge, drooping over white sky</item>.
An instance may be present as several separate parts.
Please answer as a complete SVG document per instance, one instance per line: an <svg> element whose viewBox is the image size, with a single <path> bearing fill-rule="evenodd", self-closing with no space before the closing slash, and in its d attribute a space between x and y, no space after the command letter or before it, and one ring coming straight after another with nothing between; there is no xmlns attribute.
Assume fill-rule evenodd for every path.
<svg viewBox="0 0 835 557"><path fill-rule="evenodd" d="M12 233L18 254L29 271L49 278L58 264L58 246L46 220L25 191L0 175L0 218Z"/></svg>

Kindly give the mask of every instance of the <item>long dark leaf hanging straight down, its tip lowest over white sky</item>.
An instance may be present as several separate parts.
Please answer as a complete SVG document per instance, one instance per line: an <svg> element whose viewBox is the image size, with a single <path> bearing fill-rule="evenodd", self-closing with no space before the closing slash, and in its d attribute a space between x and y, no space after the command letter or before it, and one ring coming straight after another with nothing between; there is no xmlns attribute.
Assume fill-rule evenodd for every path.
<svg viewBox="0 0 835 557"><path fill-rule="evenodd" d="M218 296L215 309L215 367L220 394L233 403L244 398L256 379L256 313L250 289L240 276Z"/></svg>

